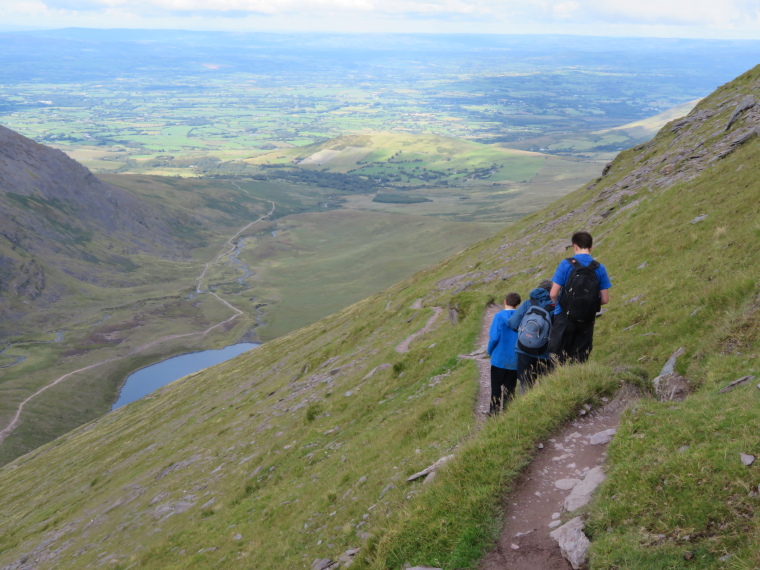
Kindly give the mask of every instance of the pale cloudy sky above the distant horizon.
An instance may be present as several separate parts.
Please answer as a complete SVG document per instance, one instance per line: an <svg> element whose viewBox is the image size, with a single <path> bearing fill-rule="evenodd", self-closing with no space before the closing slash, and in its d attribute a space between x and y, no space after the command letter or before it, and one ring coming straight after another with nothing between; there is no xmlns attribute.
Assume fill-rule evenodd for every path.
<svg viewBox="0 0 760 570"><path fill-rule="evenodd" d="M760 0L0 0L0 29L561 33L760 39Z"/></svg>

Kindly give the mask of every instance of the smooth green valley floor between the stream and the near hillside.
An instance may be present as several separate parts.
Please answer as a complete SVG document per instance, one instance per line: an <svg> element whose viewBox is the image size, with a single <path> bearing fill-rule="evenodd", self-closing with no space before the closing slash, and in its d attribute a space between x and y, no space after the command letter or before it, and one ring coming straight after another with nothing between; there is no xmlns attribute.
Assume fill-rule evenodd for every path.
<svg viewBox="0 0 760 570"><path fill-rule="evenodd" d="M498 227L358 210L282 218L275 236L256 236L240 256L254 271L254 296L271 305L258 334L271 339L315 322Z"/></svg>

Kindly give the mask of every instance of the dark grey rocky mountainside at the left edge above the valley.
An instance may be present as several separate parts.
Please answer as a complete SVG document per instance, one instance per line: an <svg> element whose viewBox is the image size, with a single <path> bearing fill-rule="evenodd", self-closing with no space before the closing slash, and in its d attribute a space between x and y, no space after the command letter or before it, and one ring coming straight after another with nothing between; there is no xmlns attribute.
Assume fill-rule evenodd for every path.
<svg viewBox="0 0 760 570"><path fill-rule="evenodd" d="M0 126L0 336L22 318L21 304L62 294L53 267L87 283L128 285L129 256L178 251L160 209Z"/></svg>

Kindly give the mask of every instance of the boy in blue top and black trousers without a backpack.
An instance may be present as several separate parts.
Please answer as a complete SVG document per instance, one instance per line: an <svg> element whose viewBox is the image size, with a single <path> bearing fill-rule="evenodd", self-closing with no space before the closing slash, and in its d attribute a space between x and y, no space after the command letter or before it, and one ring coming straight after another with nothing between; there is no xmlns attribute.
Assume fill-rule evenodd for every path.
<svg viewBox="0 0 760 570"><path fill-rule="evenodd" d="M491 416L507 407L515 395L517 387L517 355L515 343L517 333L509 328L507 321L520 304L520 295L507 293L504 296L504 310L499 311L491 323L488 335L488 355L491 357Z"/></svg>

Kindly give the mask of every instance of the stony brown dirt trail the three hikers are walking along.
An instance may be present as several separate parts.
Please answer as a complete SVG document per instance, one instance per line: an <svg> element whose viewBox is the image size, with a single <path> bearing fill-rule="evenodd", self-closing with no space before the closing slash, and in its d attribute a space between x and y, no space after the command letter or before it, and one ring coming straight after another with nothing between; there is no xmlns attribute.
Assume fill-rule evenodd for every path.
<svg viewBox="0 0 760 570"><path fill-rule="evenodd" d="M485 353L494 315L501 307L491 305L483 319L478 348L467 355L480 372L480 391L475 409L479 422L488 411L491 393L491 366ZM505 526L494 549L478 565L479 570L572 569L549 533L565 519L564 501L593 468L603 466L606 443L593 444L591 436L617 428L620 413L628 404L618 396L599 410L588 410L567 424L540 449L504 503ZM506 413L509 413L508 411Z"/></svg>

